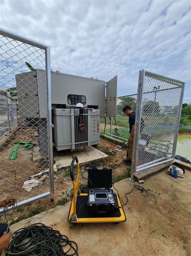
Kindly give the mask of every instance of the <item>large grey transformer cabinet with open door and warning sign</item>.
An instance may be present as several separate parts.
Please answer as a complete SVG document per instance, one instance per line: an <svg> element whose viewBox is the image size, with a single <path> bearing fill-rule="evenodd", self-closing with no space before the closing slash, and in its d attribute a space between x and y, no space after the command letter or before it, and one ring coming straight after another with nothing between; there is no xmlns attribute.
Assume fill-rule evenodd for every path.
<svg viewBox="0 0 191 256"><path fill-rule="evenodd" d="M47 104L46 94L43 93L46 92L45 75L44 70L16 75L19 115L37 118L41 126L47 125L44 120L44 106ZM100 117L116 116L116 91L117 76L106 82L51 71L53 142L56 149L74 151L98 144ZM27 102L26 92L32 101ZM44 147L45 136L44 132L39 134L41 148Z"/></svg>

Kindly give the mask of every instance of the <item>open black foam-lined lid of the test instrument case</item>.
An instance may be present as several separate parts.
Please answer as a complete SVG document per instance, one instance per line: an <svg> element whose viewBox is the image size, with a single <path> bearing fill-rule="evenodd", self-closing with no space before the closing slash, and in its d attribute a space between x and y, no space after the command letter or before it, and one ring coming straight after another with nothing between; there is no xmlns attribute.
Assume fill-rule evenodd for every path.
<svg viewBox="0 0 191 256"><path fill-rule="evenodd" d="M89 189L98 188L111 188L112 187L112 169L97 169L92 168L88 170L88 183L87 187Z"/></svg>

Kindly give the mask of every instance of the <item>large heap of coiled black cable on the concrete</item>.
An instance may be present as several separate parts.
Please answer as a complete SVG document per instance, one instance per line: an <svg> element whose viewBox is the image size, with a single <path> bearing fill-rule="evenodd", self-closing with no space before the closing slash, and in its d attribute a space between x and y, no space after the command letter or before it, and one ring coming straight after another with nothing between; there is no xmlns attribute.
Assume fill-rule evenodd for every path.
<svg viewBox="0 0 191 256"><path fill-rule="evenodd" d="M35 223L13 233L13 239L6 249L8 255L78 256L78 246L58 230Z"/></svg>

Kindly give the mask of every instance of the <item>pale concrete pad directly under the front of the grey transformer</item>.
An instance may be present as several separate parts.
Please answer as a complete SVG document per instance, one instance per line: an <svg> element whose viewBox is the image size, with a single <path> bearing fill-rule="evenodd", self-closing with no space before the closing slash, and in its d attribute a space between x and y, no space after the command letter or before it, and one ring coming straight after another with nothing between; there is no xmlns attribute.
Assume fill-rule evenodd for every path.
<svg viewBox="0 0 191 256"><path fill-rule="evenodd" d="M58 152L58 155L54 157L56 166L59 169L68 167L71 165L71 161L74 155L77 156L79 164L87 164L93 160L100 160L108 157L104 152L90 146L81 151L76 152Z"/></svg>

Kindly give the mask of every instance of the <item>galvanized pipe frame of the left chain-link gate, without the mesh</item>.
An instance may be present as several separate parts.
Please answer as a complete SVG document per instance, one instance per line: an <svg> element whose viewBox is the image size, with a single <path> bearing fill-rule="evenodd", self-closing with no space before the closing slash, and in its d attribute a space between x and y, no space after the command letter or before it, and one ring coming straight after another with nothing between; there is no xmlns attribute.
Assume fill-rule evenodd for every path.
<svg viewBox="0 0 191 256"><path fill-rule="evenodd" d="M6 29L0 28L0 35L4 37L12 38L13 40L18 40L19 42L23 42L25 44L29 44L31 46L41 48L45 50L45 67L46 67L46 89L47 89L47 127L48 127L48 156L49 156L49 171L50 171L50 184L49 191L39 194L37 196L33 196L26 200L20 201L17 204L17 207L23 206L25 204L29 204L34 202L35 200L42 199L46 196L54 194L54 170L53 170L53 147L52 147L52 106L51 106L51 78L50 78L50 46L46 44L41 44L35 40L29 39L22 35L18 35L16 33L10 32ZM2 208L0 212L2 212Z"/></svg>

